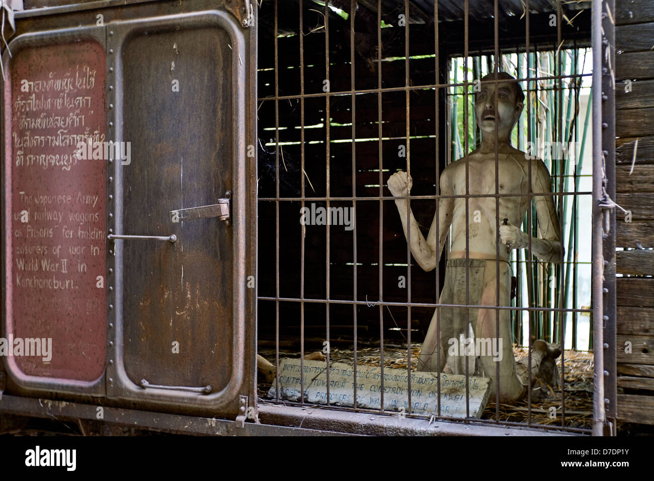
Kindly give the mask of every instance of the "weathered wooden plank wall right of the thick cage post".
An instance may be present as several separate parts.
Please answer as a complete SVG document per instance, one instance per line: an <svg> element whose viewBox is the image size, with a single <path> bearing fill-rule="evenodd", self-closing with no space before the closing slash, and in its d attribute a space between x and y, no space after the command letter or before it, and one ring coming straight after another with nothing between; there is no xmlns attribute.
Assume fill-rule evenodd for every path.
<svg viewBox="0 0 654 481"><path fill-rule="evenodd" d="M630 223L618 211L615 242L630 249L616 256L618 418L654 424L654 10L615 9L615 191L631 211Z"/></svg>

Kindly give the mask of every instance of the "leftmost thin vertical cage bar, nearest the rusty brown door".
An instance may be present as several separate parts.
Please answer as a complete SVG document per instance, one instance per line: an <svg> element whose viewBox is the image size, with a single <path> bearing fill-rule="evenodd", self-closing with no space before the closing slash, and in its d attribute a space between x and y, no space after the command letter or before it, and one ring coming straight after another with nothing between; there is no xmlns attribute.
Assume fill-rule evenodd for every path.
<svg viewBox="0 0 654 481"><path fill-rule="evenodd" d="M275 0L275 399L279 401L279 51Z"/></svg>

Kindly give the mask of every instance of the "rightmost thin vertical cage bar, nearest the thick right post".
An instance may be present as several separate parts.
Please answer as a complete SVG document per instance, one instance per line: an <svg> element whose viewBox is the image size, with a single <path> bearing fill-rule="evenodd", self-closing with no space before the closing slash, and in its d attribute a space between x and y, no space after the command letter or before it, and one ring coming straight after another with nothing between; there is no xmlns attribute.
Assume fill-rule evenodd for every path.
<svg viewBox="0 0 654 481"><path fill-rule="evenodd" d="M562 39L561 39L561 22L563 21L563 10L561 7L560 1L557 2L557 58L555 58L555 75L563 75L563 72L561 71L561 47L562 47ZM559 142L563 142L564 135L563 135L563 79L559 77L559 79L556 80L558 84L557 88L557 94L559 94L559 101L557 102L557 120L559 121L559 134L557 135ZM561 144L559 144L561 145ZM562 152L562 149L557 149L557 153ZM563 180L564 180L564 175L566 172L564 171L565 167L565 160L564 160L564 155L561 153L558 155L559 158L559 192L563 192L564 187L563 187ZM552 159L552 165L554 165L554 159ZM563 236L563 216L565 215L565 212L563 211L563 202L564 198L563 196L559 196L559 202L557 202L557 208L559 210L559 232L560 232L560 242L561 242L561 247L564 245L564 236ZM561 248L561 263L560 263L560 268L555 269L555 273L559 274L559 281L555 283L557 287L559 288L559 308L564 308L564 298L563 298L563 274L564 274L564 262L565 262L565 254L564 254L564 249ZM565 396L565 391L566 391L566 365L565 365L565 357L566 357L566 351L565 351L565 319L566 315L565 312L559 311L558 312L558 317L559 317L559 340L561 343L561 425L564 426L566 422L566 396Z"/></svg>

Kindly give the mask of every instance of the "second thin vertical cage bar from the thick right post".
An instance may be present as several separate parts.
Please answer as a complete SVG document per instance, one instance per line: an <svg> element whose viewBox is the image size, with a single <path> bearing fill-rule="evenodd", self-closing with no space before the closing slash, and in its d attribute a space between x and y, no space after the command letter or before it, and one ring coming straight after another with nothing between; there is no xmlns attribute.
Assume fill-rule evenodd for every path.
<svg viewBox="0 0 654 481"><path fill-rule="evenodd" d="M529 0L526 0L526 5L525 5L525 37L526 37L526 64L527 64L527 79L531 78L531 72L529 71L529 56L530 56L530 46L529 46ZM536 62L538 60L536 59L536 54L534 53L534 66L536 66ZM536 68L536 77L538 77L538 68ZM537 80L538 81L538 80ZM527 96L526 96L526 102L527 102L527 141L532 141L532 131L531 131L531 88L530 85L532 82L530 80L527 80ZM534 145L534 149L536 149ZM532 202L534 199L534 196L532 194L532 155L528 156L528 168L527 168L527 174L528 174L528 192L529 192L529 204L527 208L527 252L525 255L525 267L526 267L526 274L527 274L527 302L529 304L528 308L528 332L527 332L527 375L528 375L528 381L527 381L527 425L531 425L532 423L532 413L531 413L531 382L532 382L532 376L531 376L531 365L532 365L532 325L534 323L534 311L532 310L534 308L534 285L533 285L533 270L532 270L532 245L531 245L531 234L532 234Z"/></svg>

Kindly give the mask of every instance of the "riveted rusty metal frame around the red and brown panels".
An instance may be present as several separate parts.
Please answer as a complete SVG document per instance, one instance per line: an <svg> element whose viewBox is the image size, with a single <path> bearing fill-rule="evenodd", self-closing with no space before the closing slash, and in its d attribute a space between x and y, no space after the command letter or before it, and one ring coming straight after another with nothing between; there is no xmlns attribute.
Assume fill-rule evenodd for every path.
<svg viewBox="0 0 654 481"><path fill-rule="evenodd" d="M233 2L232 2L233 3ZM231 5L231 4L230 4ZM245 5L245 2L243 2ZM5 410L9 404L12 395L20 394L27 396L42 396L52 399L52 397L62 397L70 400L81 402L95 402L95 399L101 399L101 402L112 403L115 406L134 406L135 403L146 409L156 409L165 412L194 412L194 414L218 414L222 410L226 417L231 416L231 412L239 412L243 399L250 399L249 405L254 405L255 389L254 380L256 379L256 288L246 288L246 277L249 274L256 274L256 198L250 190L254 192L256 188L256 157L247 156L247 146L256 144L256 33L248 31L245 28L250 27L250 22L256 25L257 12L252 12L248 18L248 25L241 24L237 16L230 11L222 10L222 3L216 3L213 0L194 0L184 2L177 1L97 1L88 3L78 3L75 5L65 5L63 7L48 7L37 10L25 10L16 12L16 38L14 42L22 42L26 35L43 36L50 30L56 29L56 35L66 35L68 32L76 32L77 37L80 31L95 31L99 41L106 52L107 60L107 138L118 139L121 137L122 126L120 115L116 113L120 107L121 86L118 73L120 72L120 55L114 52L120 51L121 32L128 35L127 29L137 28L139 26L152 27L154 24L163 25L165 22L173 25L200 24L201 26L219 26L226 29L231 37L232 44L232 64L233 64L233 88L236 95L233 96L232 102L237 115L234 116L233 122L235 132L230 141L233 143L233 213L232 219L236 224L230 228L235 228L236 232L233 240L234 262L231 271L233 278L233 344L234 352L232 359L232 378L228 386L219 393L212 395L199 396L188 392L178 393L181 397L177 400L171 397L171 391L152 389L148 397L135 397L133 393L140 391L142 387L132 387L131 393L128 390L120 392L113 387L120 376L116 366L116 353L120 350L120 341L117 341L116 331L120 326L116 323L116 312L120 306L116 303L114 289L116 279L120 274L120 268L117 267L119 259L113 255L107 255L107 369L103 376L97 382L97 389L91 391L88 388L80 389L63 389L61 385L48 384L42 389L27 389L18 391L16 386L9 383L9 388L5 391L5 396L0 402L0 409ZM109 8L115 7L115 8ZM173 10L171 10L173 7ZM231 5L232 8L235 8ZM94 10L87 12L86 10ZM180 14L171 15L171 11L179 10ZM81 12L81 14L80 14ZM103 27L77 27L79 24L95 24L95 14L101 12L104 14L105 25ZM56 15L55 15L56 14ZM163 22L163 24L162 24ZM69 28L66 28L69 26ZM62 28L63 27L63 28ZM32 31L38 33L31 34ZM45 32L45 33L43 33ZM250 40L246 40L245 35L249 34ZM106 39L105 39L106 37ZM12 43L12 46L14 43ZM7 54L5 54L7 58ZM111 123L110 123L111 122ZM4 129L3 129L4 130ZM4 132L0 133L3 141ZM4 144L3 144L4 147ZM117 219L118 211L112 207L120 202L120 167L117 162L109 161L107 164L107 230L109 232L116 230L116 225L120 225ZM3 174L4 162L3 162ZM3 185L7 188L7 185ZM111 213L111 215L110 215ZM115 215L114 215L115 214ZM5 219L2 213L3 223ZM109 251L109 249L107 249ZM120 254L120 250L119 250ZM118 256L119 257L119 256ZM3 266L3 279L4 266ZM3 289L3 300L6 301L7 293ZM0 365L0 375L4 376L2 366ZM3 380L4 378L0 379ZM128 382L125 385L129 385ZM0 385L4 389L5 385ZM7 395L10 394L10 395ZM240 396L239 396L240 395ZM183 399L182 399L183 397ZM227 399L227 398L230 399ZM218 398L221 398L218 400ZM27 399L27 398L26 398ZM198 400L196 402L196 400ZM7 402L5 402L7 401ZM31 402L30 400L29 402ZM27 402L27 401L26 401ZM100 401L98 401L100 402ZM236 414L234 414L236 416ZM245 416L244 416L245 418ZM189 418L191 419L191 418ZM203 418L201 418L203 419ZM249 429L249 428L248 428Z"/></svg>

